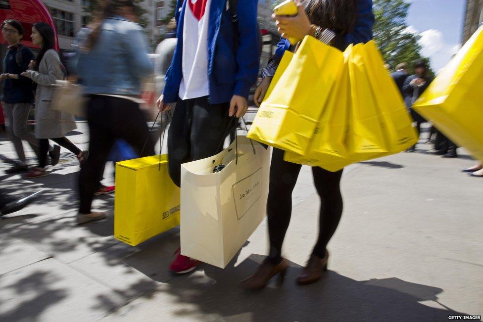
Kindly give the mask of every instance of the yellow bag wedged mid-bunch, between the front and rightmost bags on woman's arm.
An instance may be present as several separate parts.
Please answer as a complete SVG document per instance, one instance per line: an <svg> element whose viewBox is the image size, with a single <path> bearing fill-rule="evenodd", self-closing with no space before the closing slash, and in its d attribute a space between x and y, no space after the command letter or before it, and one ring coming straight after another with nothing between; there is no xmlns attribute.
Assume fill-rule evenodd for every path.
<svg viewBox="0 0 483 322"><path fill-rule="evenodd" d="M292 163L321 167L338 171L351 161L347 156L347 117L350 106L350 84L348 58L352 51L349 46L344 52L344 66L336 87L327 101L313 138L309 142L305 156L285 152L284 160Z"/></svg>

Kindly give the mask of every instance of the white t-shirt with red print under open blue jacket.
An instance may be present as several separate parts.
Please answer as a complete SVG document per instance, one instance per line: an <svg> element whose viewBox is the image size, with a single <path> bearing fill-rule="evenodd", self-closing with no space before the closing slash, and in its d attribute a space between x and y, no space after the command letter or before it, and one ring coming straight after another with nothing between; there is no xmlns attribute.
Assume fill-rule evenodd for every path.
<svg viewBox="0 0 483 322"><path fill-rule="evenodd" d="M183 26L181 99L209 95L208 21L211 0L187 0Z"/></svg>

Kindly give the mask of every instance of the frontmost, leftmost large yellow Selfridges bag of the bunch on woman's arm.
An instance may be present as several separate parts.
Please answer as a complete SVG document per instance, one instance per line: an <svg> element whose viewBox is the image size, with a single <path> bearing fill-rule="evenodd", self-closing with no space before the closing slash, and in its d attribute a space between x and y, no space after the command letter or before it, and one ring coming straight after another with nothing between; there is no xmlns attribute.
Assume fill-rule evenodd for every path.
<svg viewBox="0 0 483 322"><path fill-rule="evenodd" d="M340 50L306 36L262 102L248 138L305 154L342 64Z"/></svg>

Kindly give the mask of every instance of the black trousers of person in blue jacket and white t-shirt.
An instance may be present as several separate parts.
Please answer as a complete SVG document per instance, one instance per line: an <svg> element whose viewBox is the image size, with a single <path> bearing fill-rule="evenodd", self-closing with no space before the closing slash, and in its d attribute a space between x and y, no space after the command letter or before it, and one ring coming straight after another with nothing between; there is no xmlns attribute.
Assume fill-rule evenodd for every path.
<svg viewBox="0 0 483 322"><path fill-rule="evenodd" d="M209 104L208 97L179 99L168 131L169 175L181 186L181 164L204 159L223 150L236 118L228 116L230 103Z"/></svg>

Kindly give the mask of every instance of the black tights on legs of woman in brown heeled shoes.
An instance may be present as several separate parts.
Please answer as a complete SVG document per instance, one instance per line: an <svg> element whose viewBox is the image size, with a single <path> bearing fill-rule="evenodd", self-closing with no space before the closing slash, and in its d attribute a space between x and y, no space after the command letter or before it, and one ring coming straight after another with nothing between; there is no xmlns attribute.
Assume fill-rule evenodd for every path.
<svg viewBox="0 0 483 322"><path fill-rule="evenodd" d="M267 214L270 236L269 260L274 264L278 264L282 259L282 244L289 228L292 212L292 190L301 168L302 166L299 164L284 161L284 151L273 149ZM319 237L312 254L323 258L327 244L336 231L342 215L342 195L340 193L342 170L330 172L313 167L312 173L322 202Z"/></svg>

